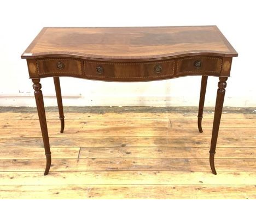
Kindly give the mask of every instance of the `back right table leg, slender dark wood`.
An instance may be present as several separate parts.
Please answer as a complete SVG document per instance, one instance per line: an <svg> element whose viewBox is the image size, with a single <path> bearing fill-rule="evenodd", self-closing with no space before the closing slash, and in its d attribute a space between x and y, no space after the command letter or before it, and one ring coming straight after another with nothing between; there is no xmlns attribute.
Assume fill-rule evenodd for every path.
<svg viewBox="0 0 256 208"><path fill-rule="evenodd" d="M200 91L200 101L199 101L199 109L197 116L197 126L200 133L202 133L202 114L203 114L203 105L205 104L205 92L207 86L208 76L202 76L201 81L201 91Z"/></svg>

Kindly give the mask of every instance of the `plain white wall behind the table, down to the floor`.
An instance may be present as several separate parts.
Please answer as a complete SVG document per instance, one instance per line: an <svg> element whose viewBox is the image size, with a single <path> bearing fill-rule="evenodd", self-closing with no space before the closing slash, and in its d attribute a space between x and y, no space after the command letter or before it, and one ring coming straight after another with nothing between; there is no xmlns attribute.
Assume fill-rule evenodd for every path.
<svg viewBox="0 0 256 208"><path fill-rule="evenodd" d="M4 2L4 3L3 3ZM2 1L0 106L35 106L21 53L42 27L217 25L238 52L225 106L256 106L254 1ZM111 83L61 77L65 106L197 106L200 77ZM217 77L209 77L206 106L214 106ZM53 78L42 79L46 106L56 106Z"/></svg>

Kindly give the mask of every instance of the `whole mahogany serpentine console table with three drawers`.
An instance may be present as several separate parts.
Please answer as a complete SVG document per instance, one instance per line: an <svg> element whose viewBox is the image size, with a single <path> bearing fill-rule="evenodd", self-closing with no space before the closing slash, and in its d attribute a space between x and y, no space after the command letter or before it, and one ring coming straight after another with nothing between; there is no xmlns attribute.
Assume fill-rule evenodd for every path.
<svg viewBox="0 0 256 208"><path fill-rule="evenodd" d="M226 80L236 56L216 26L43 28L21 58L27 59L33 82L46 155L44 175L49 173L51 152L40 78L54 78L63 132L60 76L141 82L191 75L202 76L197 122L200 132L207 78L219 77L210 148L210 166L217 174L214 154Z"/></svg>

